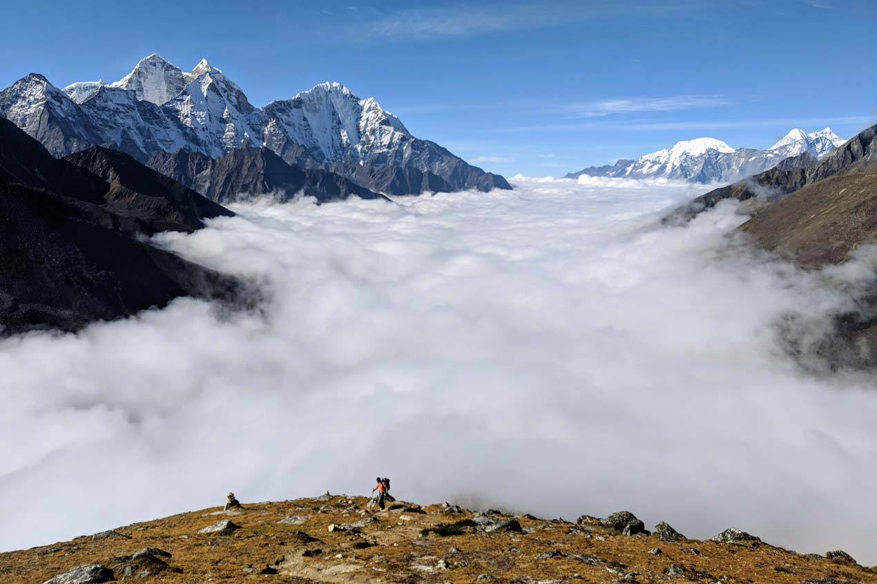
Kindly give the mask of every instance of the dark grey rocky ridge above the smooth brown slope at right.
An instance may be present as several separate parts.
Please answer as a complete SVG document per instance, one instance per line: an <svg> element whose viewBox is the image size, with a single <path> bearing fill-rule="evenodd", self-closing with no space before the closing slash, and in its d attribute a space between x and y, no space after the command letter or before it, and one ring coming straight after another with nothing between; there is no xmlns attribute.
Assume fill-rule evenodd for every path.
<svg viewBox="0 0 877 584"><path fill-rule="evenodd" d="M866 172L877 166L877 126L872 126L847 140L816 164L800 166L797 157L785 160L770 170L702 194L694 201L674 211L669 221L686 221L701 211L715 207L724 199L750 201L758 205L780 201L789 193L841 173Z"/></svg>

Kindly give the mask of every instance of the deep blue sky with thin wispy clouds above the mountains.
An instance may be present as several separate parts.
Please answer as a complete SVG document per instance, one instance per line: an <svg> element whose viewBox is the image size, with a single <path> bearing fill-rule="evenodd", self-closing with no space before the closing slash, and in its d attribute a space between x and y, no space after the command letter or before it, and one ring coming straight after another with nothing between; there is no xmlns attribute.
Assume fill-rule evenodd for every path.
<svg viewBox="0 0 877 584"><path fill-rule="evenodd" d="M256 105L320 81L373 95L487 170L560 175L711 136L877 123L873 0L4 6L0 86L115 81L207 58Z"/></svg>

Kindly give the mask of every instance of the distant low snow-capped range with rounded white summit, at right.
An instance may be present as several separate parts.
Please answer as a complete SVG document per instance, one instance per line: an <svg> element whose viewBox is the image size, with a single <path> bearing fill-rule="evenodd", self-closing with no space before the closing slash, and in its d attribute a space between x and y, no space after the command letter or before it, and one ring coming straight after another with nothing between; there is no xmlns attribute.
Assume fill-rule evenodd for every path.
<svg viewBox="0 0 877 584"><path fill-rule="evenodd" d="M688 182L730 182L766 171L783 160L809 154L823 158L845 140L831 128L804 133L795 128L766 150L732 148L711 137L685 140L673 148L652 152L636 160L618 160L614 165L589 166L567 174L567 179L589 176L630 179L674 179Z"/></svg>

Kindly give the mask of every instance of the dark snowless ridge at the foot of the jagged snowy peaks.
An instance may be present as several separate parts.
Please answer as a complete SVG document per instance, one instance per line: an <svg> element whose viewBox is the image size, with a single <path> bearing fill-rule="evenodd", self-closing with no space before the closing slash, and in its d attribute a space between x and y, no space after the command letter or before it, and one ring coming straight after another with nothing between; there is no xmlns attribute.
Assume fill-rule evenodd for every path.
<svg viewBox="0 0 877 584"><path fill-rule="evenodd" d="M146 164L212 201L237 201L258 194L288 200L298 193L320 202L350 196L385 199L334 172L289 165L266 148L239 148L222 158L191 151L160 152Z"/></svg>

